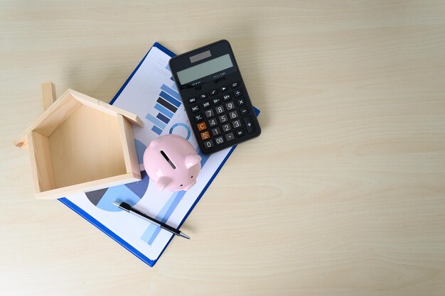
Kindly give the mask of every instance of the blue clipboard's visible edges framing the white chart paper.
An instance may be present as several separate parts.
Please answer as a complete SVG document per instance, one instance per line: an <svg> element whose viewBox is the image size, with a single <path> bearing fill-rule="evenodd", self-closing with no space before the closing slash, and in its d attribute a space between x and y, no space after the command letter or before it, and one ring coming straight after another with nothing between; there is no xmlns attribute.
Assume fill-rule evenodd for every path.
<svg viewBox="0 0 445 296"><path fill-rule="evenodd" d="M151 48L159 48L159 50L162 50L163 53L166 53L167 55L169 55L170 57L174 57L175 54L172 53L170 50L168 50L167 48L163 47L163 45L159 44L159 43L154 43L154 45ZM151 50L150 48L150 50ZM127 81L124 83L124 85L122 85L122 87L119 89L119 91L117 92L117 94L113 97L113 99L111 100L111 102L109 102L109 104L113 104L116 99L119 97L119 94L121 94L121 92L125 89L125 87L127 87L127 84L129 83L130 80L132 80L132 77L134 76L134 74L137 72L137 70L139 69L139 67L141 66L142 62L144 62L145 57L150 53L150 50L146 53L146 55L144 55L144 58L141 60L141 62L139 62L139 64L136 66L136 68L134 69L134 71L132 72L132 75L130 75L127 79ZM259 110L255 109L255 114L258 116L259 114ZM233 150L235 149L236 146L233 146L230 149L230 152L227 153L227 156L225 157L225 159L223 160L223 162L220 164L220 166L218 167L218 169L215 171L215 174L213 174L213 176L210 178L209 182L207 183L207 185L205 185L205 187L203 188L203 191L200 192L199 197L195 200L195 202L193 203L193 205L191 206L191 208L188 210L186 216L184 216L184 218L182 219L181 223L179 224L178 228L181 227L181 225L184 223L184 221L186 221L188 215L192 212L193 208L195 207L195 204L197 204L200 200L200 198L203 196L205 190L207 190L207 188L210 186L210 183L213 181L213 179L215 179L216 175L218 175L218 172L220 172L220 169L223 168L223 165L225 164L227 158L229 158L229 156L232 154ZM86 219L87 221L89 221L92 225L96 226L98 229L100 229L104 234L107 234L107 236L109 236L110 238L114 239L114 241L116 241L117 243L119 243L121 246L123 246L124 248L126 248L128 251L132 252L134 254L134 256L136 256L137 258L141 259L141 261L144 261L144 263L148 264L149 266L153 267L154 264L159 260L159 258L162 256L163 251L166 250L168 244L171 242L171 239L173 239L174 236L171 237L171 239L168 241L168 243L166 244L166 246L163 248L162 252L159 254L159 257L156 259L150 259L147 256L145 256L144 254L142 254L141 252L139 252L136 248L134 248L134 246L130 245L129 243L127 243L127 241L124 241L124 239L122 239L120 236L118 236L117 234L114 234L113 231L109 230L106 226L104 226L104 224L100 223L100 221L97 221L97 219L93 218L90 214L88 214L87 212L85 212L83 209L81 209L80 207L77 207L76 204L73 204L73 202L71 202L69 199L66 199L65 197L62 197L59 199L60 202L62 202L63 204L65 204L67 207L69 207L70 209L72 209L74 212L76 212L77 214L79 214L80 216L82 216L84 219Z"/></svg>

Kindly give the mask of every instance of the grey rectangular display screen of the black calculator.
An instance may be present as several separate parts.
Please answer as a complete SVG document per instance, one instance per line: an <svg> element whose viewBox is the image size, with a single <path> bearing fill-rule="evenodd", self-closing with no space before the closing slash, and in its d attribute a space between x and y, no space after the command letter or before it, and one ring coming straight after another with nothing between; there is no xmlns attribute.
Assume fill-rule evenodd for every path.
<svg viewBox="0 0 445 296"><path fill-rule="evenodd" d="M230 67L233 67L233 63L230 55L227 53L227 55L222 55L214 58L213 60L208 60L207 62L203 62L199 65L178 71L177 75L179 82L181 82L181 84L186 84L210 74L223 71Z"/></svg>

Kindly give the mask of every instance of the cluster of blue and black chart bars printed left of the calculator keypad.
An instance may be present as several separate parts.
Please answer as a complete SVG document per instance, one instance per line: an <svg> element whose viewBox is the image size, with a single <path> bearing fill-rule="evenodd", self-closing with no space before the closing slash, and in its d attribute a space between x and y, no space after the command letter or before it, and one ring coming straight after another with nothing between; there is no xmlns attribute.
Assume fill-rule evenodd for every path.
<svg viewBox="0 0 445 296"><path fill-rule="evenodd" d="M146 114L145 118L151 121L154 126L151 131L154 131L160 135L163 129L166 127L170 119L181 106L182 101L178 92L176 91L176 86L173 84L172 87L168 87L166 84L162 84L161 92L159 93L159 98L156 100L154 109L159 111L158 114Z"/></svg>

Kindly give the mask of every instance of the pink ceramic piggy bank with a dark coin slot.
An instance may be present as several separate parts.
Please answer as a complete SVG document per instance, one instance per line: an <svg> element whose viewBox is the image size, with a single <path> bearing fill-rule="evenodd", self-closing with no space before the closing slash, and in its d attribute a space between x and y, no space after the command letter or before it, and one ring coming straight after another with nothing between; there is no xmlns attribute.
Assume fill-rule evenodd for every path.
<svg viewBox="0 0 445 296"><path fill-rule="evenodd" d="M189 190L196 183L201 158L191 143L176 135L151 141L144 152L144 167L159 191Z"/></svg>

